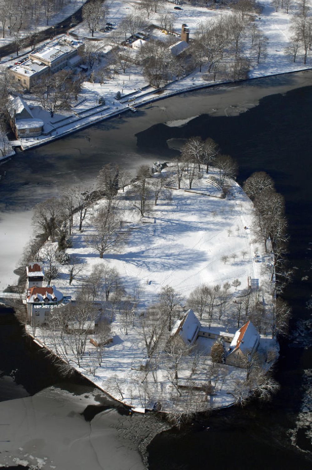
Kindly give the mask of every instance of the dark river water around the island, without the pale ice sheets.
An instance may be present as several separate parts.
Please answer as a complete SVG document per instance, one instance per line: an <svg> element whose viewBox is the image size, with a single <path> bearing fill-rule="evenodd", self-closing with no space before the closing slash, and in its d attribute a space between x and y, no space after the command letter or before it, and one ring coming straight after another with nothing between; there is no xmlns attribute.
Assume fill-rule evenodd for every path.
<svg viewBox="0 0 312 470"><path fill-rule="evenodd" d="M155 159L169 159L174 151L168 149L168 139L212 137L222 152L237 159L240 182L251 172L265 170L285 197L291 235L289 264L296 267L285 297L293 308L291 331L295 331L297 321L310 316L305 302L312 293L311 78L312 73L305 72L181 95L19 154L5 164L8 178L1 186L1 207L4 211L30 208L68 184L92 184L107 161L136 168ZM183 127L163 124L197 115ZM302 281L304 276L309 277ZM53 369L48 377L34 373L44 371L45 359L21 339L14 322L2 323L0 331L6 338L1 342L5 355L1 354L1 370L9 373L17 368L16 382L31 394L59 381ZM150 468L214 469L224 464L243 470L310 469L311 454L304 451L311 452L312 447L304 423L297 432L299 448L289 438L306 397L304 369L312 367L311 344L304 349L303 343L293 347L292 337L282 342L276 370L281 390L271 403L223 410L182 432L159 435L149 446Z"/></svg>

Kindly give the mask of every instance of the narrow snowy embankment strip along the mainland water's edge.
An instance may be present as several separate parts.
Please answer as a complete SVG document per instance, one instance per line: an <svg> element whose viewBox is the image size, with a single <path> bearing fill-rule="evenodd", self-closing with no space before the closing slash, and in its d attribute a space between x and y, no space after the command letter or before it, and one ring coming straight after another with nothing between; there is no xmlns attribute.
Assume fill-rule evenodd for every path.
<svg viewBox="0 0 312 470"><path fill-rule="evenodd" d="M138 102L130 101L131 105L128 104L128 106L125 106L124 108L121 108L121 109L118 109L118 110L114 110L113 112L107 113L104 116L102 115L103 114L103 110L102 110L101 116L96 116L97 113L92 114L92 116L94 116L95 118L92 119L91 121L83 122L81 125L75 126L72 129L67 129L67 130L65 130L61 133L58 133L57 135L51 135L50 137L48 137L46 139L42 139L41 141L38 141L38 140L34 139L30 143L28 143L29 141L21 142L21 145L17 148L20 148L23 152L27 151L27 150L30 150L30 149L35 149L35 148L41 147L43 145L46 145L48 143L51 143L53 141L57 141L57 140L65 137L65 136L70 135L70 134L74 134L74 133L79 132L83 129L91 127L92 125L98 124L102 121L106 121L106 120L109 120L111 118L116 118L118 116L121 117L121 115L124 114L127 111L136 112L137 109L139 109L142 106L145 106L149 103L161 101L161 100L164 100L166 98L177 96L179 94L190 93L192 91L200 91L200 90L204 90L206 88L212 88L212 87L219 88L220 86L224 86L224 85L234 85L235 86L235 85L240 85L240 84L244 84L244 83L253 82L253 81L259 80L261 78L281 77L281 76L285 76L285 75L297 74L298 72L305 72L305 71L311 71L311 70L312 70L312 67L308 67L308 68L305 68L305 69L298 69L296 71L286 71L286 72L274 73L274 74L270 74L270 75L262 75L260 77L244 78L244 79L239 79L239 80L236 80L236 81L212 82L212 83L207 83L207 84L204 84L204 85L193 85L191 87L187 86L186 88L181 88L179 90L170 91L170 89L168 89L168 87L170 87L172 84L176 83L177 80L175 80L175 81L169 83L166 87L164 87L162 89L164 93L158 94L157 96L153 95L153 96L151 96L151 98L144 99L145 96L151 95L151 92L147 92L145 95L144 94L141 95L142 99ZM185 77L185 78L188 78L188 77ZM183 79L180 80L180 83L182 82L182 80ZM155 93L157 93L158 91L156 90ZM125 98L123 97L121 99L124 100ZM125 103L120 102L120 104L126 104L126 103L127 103L127 101ZM100 113L100 111L99 111L99 113ZM89 117L91 117L91 116L89 116ZM83 119L87 120L89 117L87 116L86 118L83 118ZM83 119L80 118L79 120L83 120ZM75 124L75 121L73 122L73 124ZM52 131L52 132L54 132L54 131ZM16 152L10 153L10 155L2 157L1 160L0 160L0 165L2 163L4 163L5 161L7 161L8 158L14 157L15 153Z"/></svg>

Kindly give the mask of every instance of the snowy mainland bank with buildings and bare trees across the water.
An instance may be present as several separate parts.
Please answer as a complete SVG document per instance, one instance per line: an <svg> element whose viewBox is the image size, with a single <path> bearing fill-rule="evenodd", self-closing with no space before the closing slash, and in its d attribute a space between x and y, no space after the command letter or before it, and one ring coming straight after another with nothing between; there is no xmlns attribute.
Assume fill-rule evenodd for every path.
<svg viewBox="0 0 312 470"><path fill-rule="evenodd" d="M306 2L178 3L94 0L68 34L54 27L40 44L30 28L31 49L1 60L2 105L10 93L19 100L7 103L16 140L2 125L0 159L173 94L311 68ZM26 32L5 41L17 47Z"/></svg>

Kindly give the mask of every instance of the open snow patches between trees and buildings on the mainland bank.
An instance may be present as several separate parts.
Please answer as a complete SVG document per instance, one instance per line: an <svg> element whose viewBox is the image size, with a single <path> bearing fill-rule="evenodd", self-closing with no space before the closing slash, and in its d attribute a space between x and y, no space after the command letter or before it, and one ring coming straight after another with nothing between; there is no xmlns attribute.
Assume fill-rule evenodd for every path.
<svg viewBox="0 0 312 470"><path fill-rule="evenodd" d="M251 50L251 39L249 38L249 33L247 33L245 39L242 41L242 55L251 59L249 77L264 77L311 68L312 59L309 55L307 63L303 63L302 49L299 48L295 63L289 55L285 54L285 49L290 37L292 36L291 23L293 15L297 11L297 6L291 6L289 8L289 14L286 14L285 9L280 9L278 12L275 12L270 0L264 0L261 2L261 5L263 6L261 16L254 15L253 21L259 28L259 31L261 31L267 38L266 55L261 57L259 64L256 63L255 51ZM128 15L131 12L136 13L137 6L138 2L136 0L129 1L127 3L122 2L121 0L112 0L107 3L107 21L114 24L114 28L118 28L118 25L125 15ZM210 9L191 5L183 5L181 8L181 10L175 10L174 4L167 2L160 7L157 14L152 13L150 15L149 22L150 24L161 25L161 16L164 13L171 13L174 16L174 30L180 33L181 25L183 23L187 23L190 27L190 39L192 39L192 35L194 34L199 22L219 18L221 15L232 14L228 8ZM79 24L72 29L72 32L79 38L90 38L90 32L85 28L84 24ZM99 50L102 49L103 51L109 51L109 38L113 33L114 31L96 33ZM153 36L158 39L167 39L167 36L159 30L154 30L152 32L152 37ZM104 58L104 63L105 60L106 59ZM14 60L7 62L8 65L12 63L14 63ZM92 71L96 74L97 69L102 66L103 63L95 63ZM40 114L40 119L43 119L45 122L45 132L50 131L50 133L38 138L21 139L22 147L23 149L36 147L57 139L61 135L66 135L78 129L82 129L92 123L99 122L112 116L118 116L122 112L127 111L129 106L132 109L135 109L137 106L156 101L160 98L165 98L172 94L211 86L227 80L228 78L226 78L226 76L217 75L216 81L214 81L213 73L207 73L207 68L203 66L201 72L199 72L199 69L194 70L189 76L169 83L162 90L161 94L157 91L154 91L153 93L153 89L151 87L147 87L142 90L143 87L148 86L147 80L143 77L142 68L138 65L131 65L125 73L122 73L120 70L118 75L111 79L107 78L102 85L99 83L92 84L88 81L84 82L82 91L79 94L79 102L82 102L82 105L78 105L77 107L75 106L71 113L65 112L60 115L55 115L53 119L50 118L49 113L38 112L38 116L35 113L38 118ZM115 96L118 91L121 92L122 99L117 102ZM132 95L129 96L130 101L128 102L126 96L130 93ZM96 106L100 97L104 97L106 103L105 106L103 105L97 108ZM25 95L24 98L27 102L32 101L29 95ZM80 115L77 116L76 113L80 113ZM64 116L70 117L58 125L50 125L51 122Z"/></svg>

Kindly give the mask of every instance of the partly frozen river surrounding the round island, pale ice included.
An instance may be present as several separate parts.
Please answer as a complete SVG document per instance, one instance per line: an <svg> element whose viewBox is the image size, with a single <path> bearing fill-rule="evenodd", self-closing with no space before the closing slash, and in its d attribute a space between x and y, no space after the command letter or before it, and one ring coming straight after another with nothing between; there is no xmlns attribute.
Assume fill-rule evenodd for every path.
<svg viewBox="0 0 312 470"><path fill-rule="evenodd" d="M305 334L299 339L296 337L298 321L304 325L310 317L305 304L312 292L311 85L312 72L308 71L175 96L154 103L152 107L141 108L136 114L112 119L53 144L19 153L0 167L1 174L7 172L7 176L0 181L1 287L7 281L14 282L12 267L21 254L21 248L16 247L15 243L19 240L26 243L31 235L33 205L59 194L68 185L91 186L101 165L109 161L135 171L140 164L170 159L174 150L168 147L168 143L170 147L175 147L181 139L192 135L212 137L220 144L223 153L237 159L239 181L251 172L265 170L273 176L277 190L284 195L291 235L289 263L294 268L294 280L285 294L293 308L293 319L290 325L292 335L282 342L276 372L281 391L270 404L260 406L256 403L245 409L225 410L196 421L181 433L169 431L160 434L149 447L152 470L191 470L206 468L207 465L216 468L229 462L231 467L240 470L311 468L309 453L312 447L307 436L309 419L311 423L308 372L312 363L311 344ZM170 125L164 125L166 122ZM45 373L46 359L36 350L30 351L30 346L22 339L21 330L14 322L4 321L1 334L5 354L2 354L0 370L4 370L8 377L12 370L17 369L13 373L15 381L7 378L6 382L3 379L0 382L3 385L3 399L16 396L15 403L5 401L1 406L3 410L11 410L4 415L6 425L18 432L8 434L9 443L1 443L0 464L7 463L4 460L8 454L5 453L6 445L12 458L22 458L19 447L24 452L25 440L23 445L18 442L22 440L23 428L18 414L14 412L15 408L26 410L29 440L38 439L38 434L41 434L40 439L51 443L45 449L46 454L38 446L38 452L33 455L50 459L49 467L46 465L45 468L53 468L54 463L50 462L56 459L53 449L57 448L57 439L63 439L64 433L54 436L53 440L42 426L44 419L51 423L54 434L58 429L68 430L66 432L70 434L69 441L61 447L64 453L58 456L62 462L67 462L68 455L74 455L76 447L72 444L72 433L77 433L76 442L81 441L81 449L85 448L86 455L89 455L92 439L90 441L86 436L90 435L90 430L88 428L86 431L83 419L76 419L82 406L79 407L76 398L71 397L68 385L60 387L64 393L58 388L40 392L58 381L57 372ZM16 383L20 384L19 387ZM78 385L72 386L75 390ZM36 392L39 395L35 398L26 397L27 393L33 395ZM77 391L78 396L79 393ZM22 398L24 394L25 398ZM73 415L68 411L69 415L64 416L71 400ZM90 403L94 401L90 394L85 400L91 400ZM50 411L45 415L43 410ZM60 425L56 424L55 416L60 417ZM114 447L109 444L111 436L105 431L106 426L110 427L110 418L99 416L97 425L100 425L100 431L96 428L99 439L107 442L108 453L115 453ZM63 419L72 421L61 424ZM114 417L114 420L118 421L118 418ZM17 436L15 441L11 438L13 434ZM291 437L297 446L291 444ZM5 435L1 439L6 441ZM11 445L11 439L14 445ZM89 439L88 444L86 439ZM122 443L124 438L119 435L118 439ZM127 439L121 446L124 455L128 455ZM134 452L131 454L133 464L140 465L136 460L138 454L130 450ZM29 454L28 447L26 453ZM96 458L104 459L103 454L93 449L92 462ZM115 464L111 462L109 466L99 462L102 467L88 465L88 468L128 468L118 466L117 461ZM66 464L62 466L58 461L56 468L70 467ZM87 467L80 461L76 468Z"/></svg>

